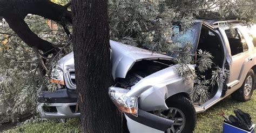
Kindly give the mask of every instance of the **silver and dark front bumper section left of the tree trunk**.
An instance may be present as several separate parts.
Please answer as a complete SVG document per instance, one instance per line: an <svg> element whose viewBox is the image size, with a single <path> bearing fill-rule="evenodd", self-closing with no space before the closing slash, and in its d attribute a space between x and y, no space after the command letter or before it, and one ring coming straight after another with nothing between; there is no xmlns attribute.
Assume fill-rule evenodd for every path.
<svg viewBox="0 0 256 133"><path fill-rule="evenodd" d="M76 90L62 89L39 94L38 111L46 119L68 119L79 117ZM77 112L76 112L77 111Z"/></svg>

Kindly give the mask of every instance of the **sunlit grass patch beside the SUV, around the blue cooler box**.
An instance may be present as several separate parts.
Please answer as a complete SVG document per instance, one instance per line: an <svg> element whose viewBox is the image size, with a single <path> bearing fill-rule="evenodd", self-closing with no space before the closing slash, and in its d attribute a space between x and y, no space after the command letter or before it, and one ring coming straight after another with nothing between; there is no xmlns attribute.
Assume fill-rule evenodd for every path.
<svg viewBox="0 0 256 133"><path fill-rule="evenodd" d="M220 113L221 109L224 110L226 116L234 115L234 109L241 109L242 111L248 113L252 117L253 123L256 123L256 92L253 94L252 99L247 102L238 102L232 100L231 97L225 98L218 104L214 105L210 109L206 110L204 113L197 115L197 125L194 132L221 132L223 130L223 120L222 116L217 115Z"/></svg>

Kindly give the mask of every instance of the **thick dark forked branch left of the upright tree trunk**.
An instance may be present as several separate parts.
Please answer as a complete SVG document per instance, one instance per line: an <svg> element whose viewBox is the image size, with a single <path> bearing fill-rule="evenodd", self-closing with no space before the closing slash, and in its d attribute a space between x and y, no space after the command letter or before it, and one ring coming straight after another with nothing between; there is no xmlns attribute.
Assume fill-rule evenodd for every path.
<svg viewBox="0 0 256 133"><path fill-rule="evenodd" d="M65 6L52 3L49 0L0 0L0 3L0 16L5 18L10 28L26 44L44 51L45 54L58 53L59 49L53 46L52 43L39 38L31 31L24 18L28 13L31 13L62 24L72 24L72 14ZM66 31L66 29L64 30Z"/></svg>

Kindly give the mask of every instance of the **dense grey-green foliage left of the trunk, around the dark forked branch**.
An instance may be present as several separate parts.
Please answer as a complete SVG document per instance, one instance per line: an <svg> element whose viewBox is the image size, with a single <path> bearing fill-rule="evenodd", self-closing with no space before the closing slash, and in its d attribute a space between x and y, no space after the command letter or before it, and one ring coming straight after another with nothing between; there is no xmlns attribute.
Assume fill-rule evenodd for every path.
<svg viewBox="0 0 256 133"><path fill-rule="evenodd" d="M64 47L68 42L62 29L51 30L46 24L46 19L39 16L28 16L26 23L31 30L41 38L48 40L58 47ZM8 26L0 29L10 35L0 35L0 123L6 121L18 121L36 113L37 94L41 90L56 90L56 84L50 83L50 75L42 75L41 64L35 51L19 39ZM69 53L72 47L65 47L57 56L50 55L45 62L50 73L56 61L65 53ZM40 52L40 51L39 51ZM43 53L41 53L43 54Z"/></svg>

